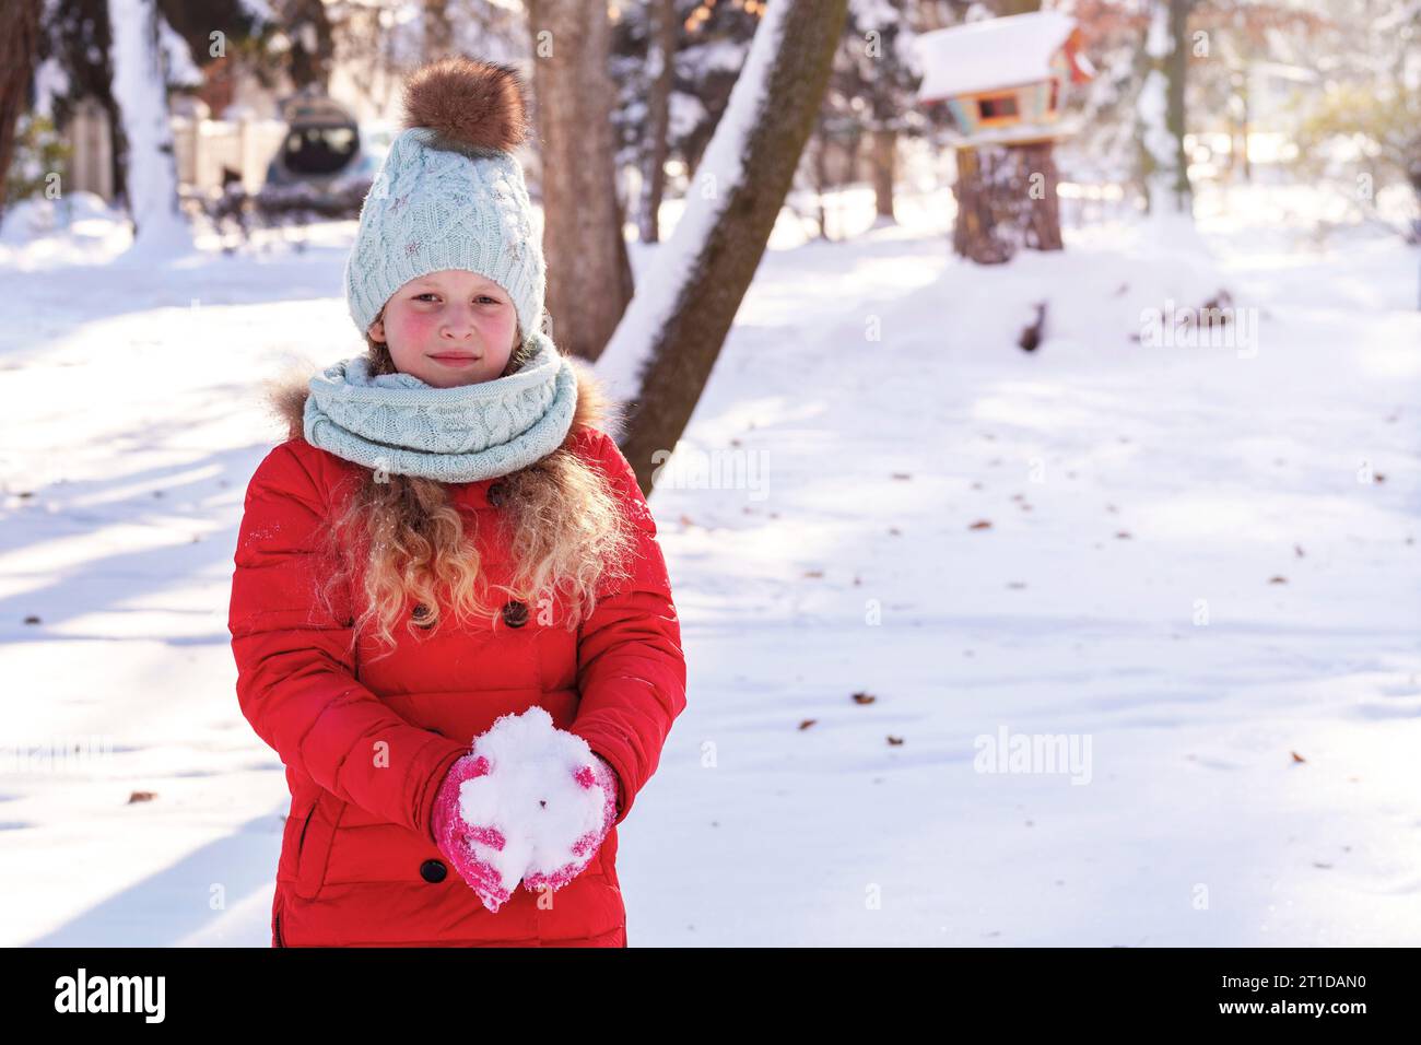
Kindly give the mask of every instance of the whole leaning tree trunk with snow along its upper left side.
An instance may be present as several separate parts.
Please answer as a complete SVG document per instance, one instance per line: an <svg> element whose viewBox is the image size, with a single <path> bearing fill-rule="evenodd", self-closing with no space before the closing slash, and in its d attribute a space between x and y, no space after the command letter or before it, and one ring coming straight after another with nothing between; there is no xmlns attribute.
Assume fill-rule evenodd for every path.
<svg viewBox="0 0 1421 1045"><path fill-rule="evenodd" d="M774 0L597 373L625 405L618 444L642 492L675 448L735 321L818 114L848 0ZM661 454L658 454L661 451Z"/></svg>

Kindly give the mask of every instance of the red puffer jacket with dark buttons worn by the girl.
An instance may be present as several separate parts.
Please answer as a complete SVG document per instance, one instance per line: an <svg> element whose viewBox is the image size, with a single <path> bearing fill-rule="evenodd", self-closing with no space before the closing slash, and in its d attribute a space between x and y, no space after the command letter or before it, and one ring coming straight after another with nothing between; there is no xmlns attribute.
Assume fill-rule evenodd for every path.
<svg viewBox="0 0 1421 1045"><path fill-rule="evenodd" d="M472 738L534 704L617 771L620 825L685 708L681 627L657 525L615 442L588 424L595 407L583 404L600 398L585 368L578 381L587 394L566 445L610 476L639 552L632 579L576 634L509 603L492 627L459 627L445 614L415 641L398 626L395 653L368 663L381 651L374 640L362 636L351 650L351 591L360 589L331 593L330 604L317 594L334 570L323 523L365 469L291 438L252 476L229 628L242 712L281 756L291 789L273 945L627 945L615 826L571 883L541 897L519 887L496 914L441 857L431 826L439 783ZM287 402L293 432L303 402ZM469 522L489 579L507 583L507 542L492 525L497 479L452 489L476 516ZM414 603L406 609L415 613Z"/></svg>

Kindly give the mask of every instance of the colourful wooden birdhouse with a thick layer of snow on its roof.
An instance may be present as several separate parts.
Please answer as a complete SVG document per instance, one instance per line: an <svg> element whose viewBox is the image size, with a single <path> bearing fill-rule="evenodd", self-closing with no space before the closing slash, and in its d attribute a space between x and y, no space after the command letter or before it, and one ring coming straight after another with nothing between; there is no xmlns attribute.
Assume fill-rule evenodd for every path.
<svg viewBox="0 0 1421 1045"><path fill-rule="evenodd" d="M1080 28L1061 11L1033 11L939 28L917 38L919 102L946 102L962 145L1060 138L1066 87L1096 70Z"/></svg>

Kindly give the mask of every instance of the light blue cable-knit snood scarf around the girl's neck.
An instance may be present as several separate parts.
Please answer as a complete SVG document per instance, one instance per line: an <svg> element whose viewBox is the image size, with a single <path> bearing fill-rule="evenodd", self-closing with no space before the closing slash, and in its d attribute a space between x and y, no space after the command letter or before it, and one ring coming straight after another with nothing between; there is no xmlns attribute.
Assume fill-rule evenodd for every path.
<svg viewBox="0 0 1421 1045"><path fill-rule="evenodd" d="M364 355L337 363L311 378L306 441L365 468L439 482L526 468L563 445L577 407L573 364L547 334L533 338L520 370L458 388L412 374L371 377Z"/></svg>

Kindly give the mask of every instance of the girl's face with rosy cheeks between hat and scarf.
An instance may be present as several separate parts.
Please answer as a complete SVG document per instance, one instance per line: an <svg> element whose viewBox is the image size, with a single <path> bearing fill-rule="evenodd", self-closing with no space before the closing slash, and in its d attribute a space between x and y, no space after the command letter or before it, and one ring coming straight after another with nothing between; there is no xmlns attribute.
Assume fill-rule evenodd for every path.
<svg viewBox="0 0 1421 1045"><path fill-rule="evenodd" d="M369 334L401 374L435 388L492 381L513 354L517 311L490 279L443 269L409 280L385 303Z"/></svg>

